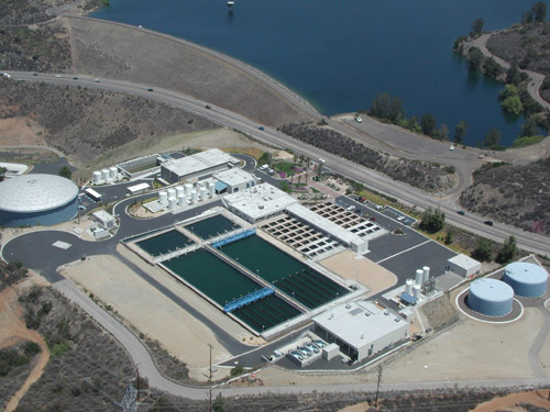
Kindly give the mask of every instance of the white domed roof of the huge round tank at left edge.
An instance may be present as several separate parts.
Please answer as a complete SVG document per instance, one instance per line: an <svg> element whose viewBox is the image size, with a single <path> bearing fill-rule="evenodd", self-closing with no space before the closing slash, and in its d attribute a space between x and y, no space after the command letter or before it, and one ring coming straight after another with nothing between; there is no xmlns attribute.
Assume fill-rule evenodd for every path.
<svg viewBox="0 0 550 412"><path fill-rule="evenodd" d="M23 175L0 183L0 210L40 212L67 204L78 194L78 186L56 175Z"/></svg>

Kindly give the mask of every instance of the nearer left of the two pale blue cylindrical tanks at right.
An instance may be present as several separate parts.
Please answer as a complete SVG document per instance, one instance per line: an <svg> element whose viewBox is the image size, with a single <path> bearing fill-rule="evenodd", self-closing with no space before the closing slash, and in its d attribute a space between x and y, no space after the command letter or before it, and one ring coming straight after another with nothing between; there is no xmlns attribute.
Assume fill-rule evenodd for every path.
<svg viewBox="0 0 550 412"><path fill-rule="evenodd" d="M466 304L486 316L504 316L512 312L514 290L501 280L476 279L470 286Z"/></svg>

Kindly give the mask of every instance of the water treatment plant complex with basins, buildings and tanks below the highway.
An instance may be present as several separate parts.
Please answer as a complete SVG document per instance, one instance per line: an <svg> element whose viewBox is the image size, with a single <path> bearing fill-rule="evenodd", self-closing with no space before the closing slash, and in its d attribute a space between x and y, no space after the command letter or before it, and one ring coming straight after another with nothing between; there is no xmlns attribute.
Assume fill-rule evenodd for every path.
<svg viewBox="0 0 550 412"><path fill-rule="evenodd" d="M128 263L118 270L140 270L144 279L154 272L151 285L185 296L180 304L196 316L205 313L200 327L232 331L223 345L255 343L250 354L233 349L233 356L220 358L222 367L234 361L252 367L258 358L302 370L369 365L426 336L431 327L424 324L422 305L473 278L457 307L483 322L515 322L526 299L548 294L548 274L534 260L480 277L480 261L419 234L409 227L415 220L400 211L343 196L308 202L282 190L285 180L253 162L245 170L237 155L220 153L152 155L94 172L94 192L114 205L98 208L87 191L81 204L102 235L94 243L56 240L48 256L36 253L36 258L78 250L86 261L94 248L117 247ZM11 180L19 191L3 186L3 219L13 225L76 223L74 183L22 178L23 183ZM79 236L88 233L77 229ZM87 285L101 296L91 278ZM127 299L141 304L138 297Z"/></svg>

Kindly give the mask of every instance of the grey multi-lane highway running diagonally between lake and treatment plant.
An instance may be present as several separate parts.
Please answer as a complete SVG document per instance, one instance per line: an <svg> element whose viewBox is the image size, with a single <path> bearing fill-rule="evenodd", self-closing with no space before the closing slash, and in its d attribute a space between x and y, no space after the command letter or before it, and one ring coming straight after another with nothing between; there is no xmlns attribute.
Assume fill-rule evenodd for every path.
<svg viewBox="0 0 550 412"><path fill-rule="evenodd" d="M258 127L261 126L261 124L257 124L256 122L243 118L242 115L233 113L227 109L216 107L209 102L197 100L193 97L170 90L158 88L153 89L153 87L148 85L139 85L129 81L110 79L101 79L100 82L96 82L94 77L82 75L37 74L37 76L35 76L33 73L16 71L10 71L10 75L11 79L14 80L44 81L62 86L72 85L88 88L100 88L103 90L111 90L113 92L123 92L148 98L175 108L186 110L194 114L204 116L219 124L220 126L233 129L235 131L250 135L265 144L282 148L289 148L293 152L307 156L311 159L322 158L326 160L326 167L336 171L337 174L360 181L366 187L392 196L406 204L417 205L420 209L427 209L429 207L431 207L432 209L439 208L446 213L447 221L449 223L458 227L471 231L480 236L492 238L497 242L503 242L508 236L514 235L516 237L517 245L520 248L540 255L550 255L550 238L546 236L525 232L516 227L499 224L497 222L495 222L493 226L484 225L483 222L485 219L483 216L476 216L468 213L466 215L459 215L457 213L457 210L459 208L455 204L457 193L454 193L454 196L449 196L449 193L446 193L444 196L435 196L422 192L419 189L413 188L399 181L395 181L389 177L378 174L372 169L367 169L339 156L332 155L317 147L294 140L271 127L264 127L263 130L260 130ZM152 89L152 91L150 89ZM206 108L207 104L210 107L210 109ZM441 160L440 163L444 162ZM460 180L461 187L468 183L464 176L462 176Z"/></svg>

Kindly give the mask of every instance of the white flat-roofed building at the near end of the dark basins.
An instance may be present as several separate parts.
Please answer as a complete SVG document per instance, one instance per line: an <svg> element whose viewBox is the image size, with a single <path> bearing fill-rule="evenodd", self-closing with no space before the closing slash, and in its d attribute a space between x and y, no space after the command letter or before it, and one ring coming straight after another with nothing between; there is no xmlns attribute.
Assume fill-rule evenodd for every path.
<svg viewBox="0 0 550 412"><path fill-rule="evenodd" d="M351 360L363 360L409 335L409 323L372 302L349 302L312 319L315 333Z"/></svg>

